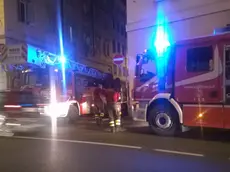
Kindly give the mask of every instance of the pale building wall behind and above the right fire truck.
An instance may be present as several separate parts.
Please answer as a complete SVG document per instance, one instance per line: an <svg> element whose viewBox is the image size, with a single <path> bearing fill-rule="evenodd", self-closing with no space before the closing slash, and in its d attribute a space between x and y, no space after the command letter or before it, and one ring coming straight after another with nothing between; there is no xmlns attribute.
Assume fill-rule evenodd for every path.
<svg viewBox="0 0 230 172"><path fill-rule="evenodd" d="M130 78L134 77L136 54L152 46L157 21L167 21L172 41L178 41L213 34L215 28L230 23L229 15L230 0L127 0Z"/></svg>

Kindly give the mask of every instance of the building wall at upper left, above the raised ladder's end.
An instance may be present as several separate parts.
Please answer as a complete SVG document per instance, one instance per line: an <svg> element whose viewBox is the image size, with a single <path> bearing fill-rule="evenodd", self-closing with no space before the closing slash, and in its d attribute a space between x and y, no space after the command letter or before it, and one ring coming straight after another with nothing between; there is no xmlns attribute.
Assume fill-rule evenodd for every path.
<svg viewBox="0 0 230 172"><path fill-rule="evenodd" d="M6 44L28 43L57 52L58 37L54 0L30 0L25 21L20 21L19 0L4 0Z"/></svg>

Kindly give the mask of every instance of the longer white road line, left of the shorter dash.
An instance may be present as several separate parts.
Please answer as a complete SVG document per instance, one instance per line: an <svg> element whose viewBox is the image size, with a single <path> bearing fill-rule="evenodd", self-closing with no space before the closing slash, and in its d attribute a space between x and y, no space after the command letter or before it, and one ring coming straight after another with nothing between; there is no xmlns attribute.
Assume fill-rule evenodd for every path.
<svg viewBox="0 0 230 172"><path fill-rule="evenodd" d="M55 142L66 142L66 143L79 143L79 144L91 144L91 145L120 147L120 148L129 148L129 149L142 149L142 147L139 147L139 146L120 145L120 144L102 143L102 142L90 142L90 141L81 141L81 140L66 140L66 139L55 139L55 138L23 137L23 136L14 136L12 138L28 139L28 140L55 141Z"/></svg>

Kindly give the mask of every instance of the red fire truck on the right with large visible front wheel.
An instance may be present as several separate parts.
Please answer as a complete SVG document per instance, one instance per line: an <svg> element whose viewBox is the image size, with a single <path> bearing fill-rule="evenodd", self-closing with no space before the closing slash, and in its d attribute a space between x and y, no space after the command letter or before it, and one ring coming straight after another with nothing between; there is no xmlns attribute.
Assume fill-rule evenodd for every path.
<svg viewBox="0 0 230 172"><path fill-rule="evenodd" d="M183 40L163 56L138 54L133 105L159 135L187 127L230 129L230 34Z"/></svg>

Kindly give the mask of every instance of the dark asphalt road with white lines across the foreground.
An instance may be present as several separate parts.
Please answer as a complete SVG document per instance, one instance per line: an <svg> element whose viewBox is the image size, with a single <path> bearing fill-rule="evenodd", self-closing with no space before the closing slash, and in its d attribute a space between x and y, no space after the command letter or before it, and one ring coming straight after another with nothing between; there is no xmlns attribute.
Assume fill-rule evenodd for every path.
<svg viewBox="0 0 230 172"><path fill-rule="evenodd" d="M61 123L37 133L0 138L2 172L229 172L224 131L158 137L142 125L111 134L91 122Z"/></svg>

